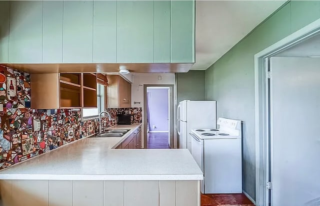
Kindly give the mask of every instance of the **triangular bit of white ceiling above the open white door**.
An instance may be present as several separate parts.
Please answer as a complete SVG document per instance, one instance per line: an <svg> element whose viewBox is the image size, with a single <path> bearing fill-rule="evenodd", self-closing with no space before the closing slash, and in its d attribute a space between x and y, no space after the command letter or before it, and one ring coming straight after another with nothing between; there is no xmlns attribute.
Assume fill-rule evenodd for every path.
<svg viewBox="0 0 320 206"><path fill-rule="evenodd" d="M320 57L320 34L292 46L274 56L281 57Z"/></svg>

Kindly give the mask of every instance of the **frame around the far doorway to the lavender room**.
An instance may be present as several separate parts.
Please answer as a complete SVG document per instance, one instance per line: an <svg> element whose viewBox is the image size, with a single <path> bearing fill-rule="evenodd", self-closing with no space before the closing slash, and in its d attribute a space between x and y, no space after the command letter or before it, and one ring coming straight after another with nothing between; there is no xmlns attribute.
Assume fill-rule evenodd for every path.
<svg viewBox="0 0 320 206"><path fill-rule="evenodd" d="M174 148L175 141L174 141L174 85L173 84L143 84L143 148L147 149L147 122L146 122L146 89L147 87L168 87L170 94L169 94L169 136L170 136L170 146Z"/></svg>

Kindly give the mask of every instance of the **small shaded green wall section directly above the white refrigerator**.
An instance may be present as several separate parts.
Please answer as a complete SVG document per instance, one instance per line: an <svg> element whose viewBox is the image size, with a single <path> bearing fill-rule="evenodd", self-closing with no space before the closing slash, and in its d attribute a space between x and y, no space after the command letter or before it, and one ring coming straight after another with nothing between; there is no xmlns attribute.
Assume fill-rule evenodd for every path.
<svg viewBox="0 0 320 206"><path fill-rule="evenodd" d="M176 73L177 102L185 99L205 100L204 71L190 70Z"/></svg>

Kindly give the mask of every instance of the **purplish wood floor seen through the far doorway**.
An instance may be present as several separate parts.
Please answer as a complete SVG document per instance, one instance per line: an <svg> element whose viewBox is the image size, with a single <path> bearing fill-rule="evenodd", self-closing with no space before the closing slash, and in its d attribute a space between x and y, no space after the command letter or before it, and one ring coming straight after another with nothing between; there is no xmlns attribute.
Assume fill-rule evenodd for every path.
<svg viewBox="0 0 320 206"><path fill-rule="evenodd" d="M170 149L167 132L149 132L147 134L147 149Z"/></svg>

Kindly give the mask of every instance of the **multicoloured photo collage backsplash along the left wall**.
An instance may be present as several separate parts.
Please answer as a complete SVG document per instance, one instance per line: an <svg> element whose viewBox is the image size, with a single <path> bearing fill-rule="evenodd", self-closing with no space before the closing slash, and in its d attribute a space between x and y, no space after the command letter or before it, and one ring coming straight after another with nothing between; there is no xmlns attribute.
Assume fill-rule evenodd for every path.
<svg viewBox="0 0 320 206"><path fill-rule="evenodd" d="M80 109L37 110L30 107L30 75L0 66L0 169L98 133L98 119L81 121ZM118 113L142 122L141 108L107 109L102 129L116 125Z"/></svg>

